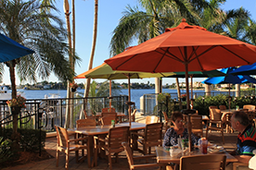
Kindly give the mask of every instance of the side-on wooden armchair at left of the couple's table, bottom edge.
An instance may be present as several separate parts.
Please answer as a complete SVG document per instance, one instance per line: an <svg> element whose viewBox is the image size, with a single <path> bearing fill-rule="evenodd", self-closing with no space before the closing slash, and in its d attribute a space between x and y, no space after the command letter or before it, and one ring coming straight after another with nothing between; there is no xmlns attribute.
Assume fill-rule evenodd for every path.
<svg viewBox="0 0 256 170"><path fill-rule="evenodd" d="M130 169L147 169L149 167L160 167L161 164L153 163L153 164L134 164L134 160L142 160L142 159L148 159L152 157L156 157L156 155L144 155L144 156L136 156L133 157L133 152L127 142L122 142L122 146L124 148L124 151L126 152L127 160L130 166Z"/></svg>

